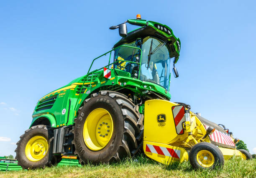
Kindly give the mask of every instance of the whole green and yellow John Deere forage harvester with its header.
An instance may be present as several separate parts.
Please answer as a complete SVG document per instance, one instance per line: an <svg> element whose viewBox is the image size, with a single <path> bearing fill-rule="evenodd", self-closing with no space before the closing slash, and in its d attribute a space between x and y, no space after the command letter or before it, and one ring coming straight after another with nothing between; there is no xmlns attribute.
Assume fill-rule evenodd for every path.
<svg viewBox="0 0 256 178"><path fill-rule="evenodd" d="M140 28L127 33L126 23ZM109 163L142 148L160 163L189 159L194 168L222 166L233 155L251 158L236 150L230 132L187 104L169 102L170 68L181 46L171 28L140 15L110 27L116 28L123 38L92 61L107 56L105 66L91 71L91 64L86 75L39 99L17 142L19 165L50 166L62 155L77 155L81 164Z"/></svg>

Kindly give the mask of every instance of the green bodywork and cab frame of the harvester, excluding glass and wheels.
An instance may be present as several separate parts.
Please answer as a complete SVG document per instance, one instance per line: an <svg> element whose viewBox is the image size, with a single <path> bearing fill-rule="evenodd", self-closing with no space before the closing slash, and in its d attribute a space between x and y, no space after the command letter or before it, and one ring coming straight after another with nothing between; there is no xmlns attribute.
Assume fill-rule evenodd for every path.
<svg viewBox="0 0 256 178"><path fill-rule="evenodd" d="M127 22L141 27L128 33L126 37L123 37L115 44L111 51L104 53L92 61L92 64L94 64L95 61L109 56L108 60L104 61L105 65L100 69L90 71L92 69L91 64L86 75L74 79L66 86L42 97L33 111L33 120L30 127L38 124L51 125L51 127L74 125L74 118L77 117L77 110L82 106L83 101L89 98L92 93L101 90L118 91L127 96L131 93L133 99L141 100L142 104L139 108L141 113L143 113L143 103L146 99L161 98L169 100L171 98L169 94L169 82L167 84L168 86L163 87L154 82L140 80L143 51L141 48L131 46L128 43L135 41L137 38L145 38L147 36L161 39L161 41L165 41L166 46L169 46L169 58L174 58L173 62L175 64L179 58L179 39L174 36L171 28L160 23L140 19L128 19ZM164 29L166 31L164 31ZM131 50L133 53L136 51L138 60L118 60L118 58L115 58L115 51L119 48ZM146 56L146 58L148 58L148 56ZM128 62L137 65L137 76L122 70L122 67L118 67L119 69L116 67L113 68L113 65L120 62ZM104 77L104 67L111 71L110 79ZM170 68L170 66L168 67ZM170 75L168 78L170 78ZM142 98L144 98L144 100Z"/></svg>

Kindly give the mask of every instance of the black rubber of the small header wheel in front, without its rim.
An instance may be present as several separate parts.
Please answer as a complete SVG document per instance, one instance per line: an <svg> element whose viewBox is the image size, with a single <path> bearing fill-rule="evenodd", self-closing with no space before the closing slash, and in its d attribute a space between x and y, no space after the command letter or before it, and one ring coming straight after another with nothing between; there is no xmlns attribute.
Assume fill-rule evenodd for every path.
<svg viewBox="0 0 256 178"><path fill-rule="evenodd" d="M214 163L210 167L205 167L197 161L197 154L201 150L209 151L214 158ZM206 159L210 160L210 157L206 156ZM189 151L189 162L194 169L215 169L223 168L224 166L224 157L220 149L209 142L200 142L194 145Z"/></svg>

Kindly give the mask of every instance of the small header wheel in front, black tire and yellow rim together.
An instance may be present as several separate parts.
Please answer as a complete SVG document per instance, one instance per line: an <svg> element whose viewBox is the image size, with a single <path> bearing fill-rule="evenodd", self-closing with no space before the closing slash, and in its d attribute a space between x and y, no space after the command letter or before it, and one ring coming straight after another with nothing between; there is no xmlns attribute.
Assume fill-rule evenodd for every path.
<svg viewBox="0 0 256 178"><path fill-rule="evenodd" d="M224 157L220 149L208 142L200 142L192 147L189 161L195 169L223 168L224 165Z"/></svg>

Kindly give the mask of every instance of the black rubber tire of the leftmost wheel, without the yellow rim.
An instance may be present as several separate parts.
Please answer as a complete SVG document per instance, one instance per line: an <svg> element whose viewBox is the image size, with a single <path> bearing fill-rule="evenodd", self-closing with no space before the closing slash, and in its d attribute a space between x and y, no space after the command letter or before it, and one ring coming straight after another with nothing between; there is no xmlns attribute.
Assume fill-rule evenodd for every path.
<svg viewBox="0 0 256 178"><path fill-rule="evenodd" d="M25 148L28 141L34 136L43 136L46 138L49 149L47 150L44 158L33 162L27 158L25 154ZM18 160L18 165L20 165L23 169L35 169L45 168L45 166L51 166L59 163L61 156L55 156L52 153L53 139L54 132L52 127L46 125L36 125L26 130L25 133L20 136L20 140L16 143L17 148L15 150L15 159Z"/></svg>

